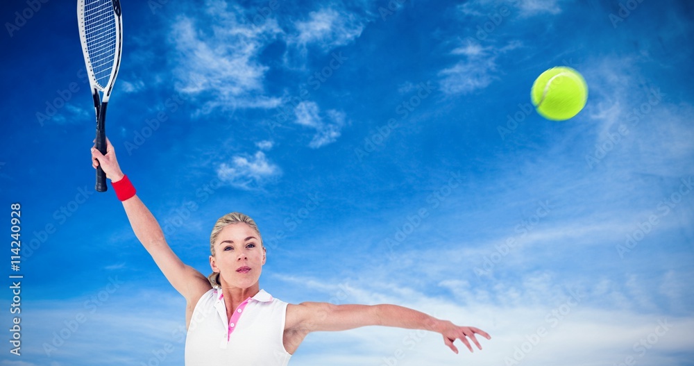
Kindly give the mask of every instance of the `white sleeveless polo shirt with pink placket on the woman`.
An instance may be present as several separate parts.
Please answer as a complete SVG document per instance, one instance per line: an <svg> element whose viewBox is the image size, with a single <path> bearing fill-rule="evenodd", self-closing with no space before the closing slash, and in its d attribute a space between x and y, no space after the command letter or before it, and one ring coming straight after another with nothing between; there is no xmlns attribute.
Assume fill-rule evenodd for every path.
<svg viewBox="0 0 694 366"><path fill-rule="evenodd" d="M260 290L226 316L224 294L213 288L193 310L185 340L186 366L285 366L282 342L287 303Z"/></svg>

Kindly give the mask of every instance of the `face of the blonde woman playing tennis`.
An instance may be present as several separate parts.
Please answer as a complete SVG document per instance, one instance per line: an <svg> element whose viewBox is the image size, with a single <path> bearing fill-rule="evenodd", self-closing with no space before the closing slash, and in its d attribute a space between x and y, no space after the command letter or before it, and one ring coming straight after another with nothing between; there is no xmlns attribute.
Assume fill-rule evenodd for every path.
<svg viewBox="0 0 694 366"><path fill-rule="evenodd" d="M265 249L251 226L230 224L219 232L210 267L220 273L221 285L250 288L260 278L264 264Z"/></svg>

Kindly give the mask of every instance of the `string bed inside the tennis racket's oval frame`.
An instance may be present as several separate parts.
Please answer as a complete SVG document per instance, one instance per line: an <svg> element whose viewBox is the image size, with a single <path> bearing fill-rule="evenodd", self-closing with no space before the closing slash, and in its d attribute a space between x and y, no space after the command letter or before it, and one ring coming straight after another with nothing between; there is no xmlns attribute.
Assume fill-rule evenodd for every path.
<svg viewBox="0 0 694 366"><path fill-rule="evenodd" d="M116 21L112 0L85 1L84 30L94 78L101 88L105 88L116 53Z"/></svg>

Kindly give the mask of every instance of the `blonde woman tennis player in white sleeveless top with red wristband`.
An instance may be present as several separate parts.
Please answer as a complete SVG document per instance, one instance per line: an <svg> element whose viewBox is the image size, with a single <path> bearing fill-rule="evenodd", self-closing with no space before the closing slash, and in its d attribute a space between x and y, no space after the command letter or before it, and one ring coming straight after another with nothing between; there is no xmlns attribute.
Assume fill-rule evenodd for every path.
<svg viewBox="0 0 694 366"><path fill-rule="evenodd" d="M455 353L455 340L473 351L482 349L471 326L457 326L402 306L285 303L260 289L266 250L251 217L230 213L217 220L210 235L210 267L205 277L185 265L171 250L157 220L121 172L112 144L106 154L92 148L92 166L101 166L122 201L135 235L171 285L185 297L185 365L287 365L306 335L315 331L346 331L361 326L423 329L443 335Z"/></svg>

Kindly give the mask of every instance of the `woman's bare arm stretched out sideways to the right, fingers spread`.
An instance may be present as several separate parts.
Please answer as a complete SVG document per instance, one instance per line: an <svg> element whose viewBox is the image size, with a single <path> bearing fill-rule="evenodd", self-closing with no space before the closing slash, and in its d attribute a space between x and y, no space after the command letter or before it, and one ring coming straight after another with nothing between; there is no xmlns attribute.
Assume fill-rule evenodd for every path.
<svg viewBox="0 0 694 366"><path fill-rule="evenodd" d="M471 326L457 326L417 310L397 305L333 305L331 303L305 302L287 308L287 333L300 338L313 331L346 331L360 326L395 326L398 328L423 329L443 335L443 342L455 353L455 340L461 340L472 352L468 338L478 349L482 349L475 334L491 339L489 334ZM298 346L298 344L296 344Z"/></svg>

